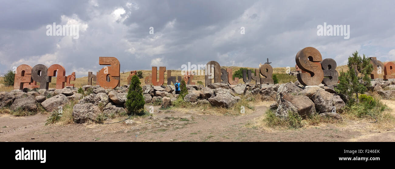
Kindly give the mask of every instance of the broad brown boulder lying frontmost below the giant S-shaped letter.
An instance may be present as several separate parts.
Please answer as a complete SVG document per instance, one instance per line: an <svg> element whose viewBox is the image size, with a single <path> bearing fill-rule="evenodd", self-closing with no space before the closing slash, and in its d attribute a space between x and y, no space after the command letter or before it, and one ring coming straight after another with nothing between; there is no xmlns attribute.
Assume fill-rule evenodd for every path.
<svg viewBox="0 0 395 169"><path fill-rule="evenodd" d="M281 103L278 105L276 114L288 117L288 111L297 112L301 116L311 116L316 113L316 108L307 96L295 96L287 93L281 95Z"/></svg>

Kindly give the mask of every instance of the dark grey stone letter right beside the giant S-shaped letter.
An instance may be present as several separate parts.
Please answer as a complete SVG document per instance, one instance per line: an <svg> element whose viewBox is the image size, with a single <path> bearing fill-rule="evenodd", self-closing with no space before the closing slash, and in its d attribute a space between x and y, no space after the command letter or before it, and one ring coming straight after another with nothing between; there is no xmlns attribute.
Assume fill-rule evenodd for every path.
<svg viewBox="0 0 395 169"><path fill-rule="evenodd" d="M322 71L324 72L324 80L322 83L325 85L333 85L339 82L339 73L336 70L336 61L333 59L324 59L321 62Z"/></svg>

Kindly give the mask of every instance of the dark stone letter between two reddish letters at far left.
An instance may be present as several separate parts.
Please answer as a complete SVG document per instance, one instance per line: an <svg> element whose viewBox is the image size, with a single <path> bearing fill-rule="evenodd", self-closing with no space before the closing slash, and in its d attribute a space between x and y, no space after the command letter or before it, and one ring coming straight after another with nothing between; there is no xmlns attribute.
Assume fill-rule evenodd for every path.
<svg viewBox="0 0 395 169"><path fill-rule="evenodd" d="M48 90L49 82L51 77L47 74L48 68L45 65L36 65L32 68L32 79L36 82L40 82L40 89Z"/></svg>

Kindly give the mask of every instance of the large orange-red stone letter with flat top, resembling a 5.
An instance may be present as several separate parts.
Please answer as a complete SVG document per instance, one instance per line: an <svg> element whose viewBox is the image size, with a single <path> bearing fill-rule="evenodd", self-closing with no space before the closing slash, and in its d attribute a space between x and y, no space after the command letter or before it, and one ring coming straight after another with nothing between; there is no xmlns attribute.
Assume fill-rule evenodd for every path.
<svg viewBox="0 0 395 169"><path fill-rule="evenodd" d="M97 84L104 89L115 89L119 85L120 78L120 64L115 57L99 57L99 65L111 65L102 68L96 77ZM107 81L109 76L110 81Z"/></svg>

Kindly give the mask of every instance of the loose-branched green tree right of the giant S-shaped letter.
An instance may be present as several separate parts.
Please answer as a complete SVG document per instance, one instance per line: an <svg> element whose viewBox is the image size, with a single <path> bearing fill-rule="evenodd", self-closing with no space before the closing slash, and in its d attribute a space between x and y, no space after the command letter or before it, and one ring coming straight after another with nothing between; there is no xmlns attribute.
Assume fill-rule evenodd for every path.
<svg viewBox="0 0 395 169"><path fill-rule="evenodd" d="M358 55L355 51L352 56L348 57L348 70L347 72L340 72L340 83L335 88L335 91L345 95L348 98L348 104L354 102L352 96L355 93L356 101L359 102L358 93L365 93L367 86L371 85L370 74L373 66L369 58Z"/></svg>

